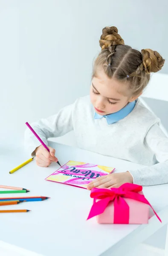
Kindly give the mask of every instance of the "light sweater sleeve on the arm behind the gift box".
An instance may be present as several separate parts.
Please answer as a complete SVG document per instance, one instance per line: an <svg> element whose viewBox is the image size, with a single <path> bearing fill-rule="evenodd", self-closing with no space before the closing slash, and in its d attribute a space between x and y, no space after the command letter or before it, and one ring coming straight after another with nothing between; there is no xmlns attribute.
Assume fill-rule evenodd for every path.
<svg viewBox="0 0 168 256"><path fill-rule="evenodd" d="M154 124L146 134L144 143L154 153L156 164L129 170L133 183L142 186L168 183L168 137L158 124Z"/></svg>

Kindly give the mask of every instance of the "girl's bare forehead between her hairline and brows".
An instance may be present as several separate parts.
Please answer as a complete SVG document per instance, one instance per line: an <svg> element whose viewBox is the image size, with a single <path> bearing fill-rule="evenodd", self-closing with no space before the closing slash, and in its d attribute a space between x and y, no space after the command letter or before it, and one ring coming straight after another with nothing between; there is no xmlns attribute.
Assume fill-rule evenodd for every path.
<svg viewBox="0 0 168 256"><path fill-rule="evenodd" d="M102 71L99 71L97 76L92 80L94 87L98 92L107 98L112 98L114 95L118 97L128 96L128 84L109 78Z"/></svg>

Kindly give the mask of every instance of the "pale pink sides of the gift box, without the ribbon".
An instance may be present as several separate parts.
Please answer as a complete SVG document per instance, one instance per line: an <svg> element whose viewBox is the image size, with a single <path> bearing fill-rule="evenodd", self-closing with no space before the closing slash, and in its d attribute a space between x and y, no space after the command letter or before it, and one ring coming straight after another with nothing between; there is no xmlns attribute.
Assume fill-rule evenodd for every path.
<svg viewBox="0 0 168 256"><path fill-rule="evenodd" d="M142 192L139 192L142 194ZM149 205L130 198L124 198L129 206L129 224L148 224ZM114 202L111 201L103 213L96 216L98 223L114 223ZM117 223L116 223L117 224Z"/></svg>

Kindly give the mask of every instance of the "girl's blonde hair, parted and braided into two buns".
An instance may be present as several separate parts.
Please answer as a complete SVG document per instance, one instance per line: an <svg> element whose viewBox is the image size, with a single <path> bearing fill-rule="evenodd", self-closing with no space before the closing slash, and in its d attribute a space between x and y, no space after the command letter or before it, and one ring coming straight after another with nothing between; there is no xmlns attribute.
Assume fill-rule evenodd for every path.
<svg viewBox="0 0 168 256"><path fill-rule="evenodd" d="M93 64L93 77L98 77L98 68L109 77L129 82L133 96L139 95L147 86L150 73L161 70L165 60L151 49L139 52L125 45L115 26L104 27L99 40L101 52Z"/></svg>

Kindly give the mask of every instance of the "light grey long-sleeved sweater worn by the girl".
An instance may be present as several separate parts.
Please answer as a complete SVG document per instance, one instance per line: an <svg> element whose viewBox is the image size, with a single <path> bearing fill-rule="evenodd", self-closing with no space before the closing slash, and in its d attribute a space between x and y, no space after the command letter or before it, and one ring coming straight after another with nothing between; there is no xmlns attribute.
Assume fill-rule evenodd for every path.
<svg viewBox="0 0 168 256"><path fill-rule="evenodd" d="M94 119L94 108L89 96L85 96L31 126L46 145L47 138L74 130L79 148L144 165L125 171L131 173L133 183L149 186L168 183L168 137L159 122L138 99L125 118L108 125L105 118ZM27 128L25 146L32 156L39 145Z"/></svg>

